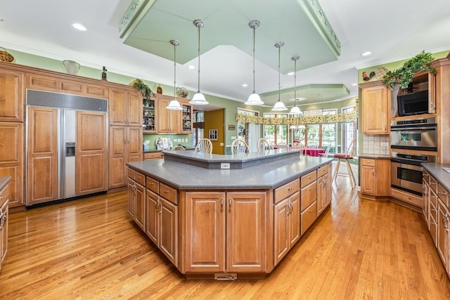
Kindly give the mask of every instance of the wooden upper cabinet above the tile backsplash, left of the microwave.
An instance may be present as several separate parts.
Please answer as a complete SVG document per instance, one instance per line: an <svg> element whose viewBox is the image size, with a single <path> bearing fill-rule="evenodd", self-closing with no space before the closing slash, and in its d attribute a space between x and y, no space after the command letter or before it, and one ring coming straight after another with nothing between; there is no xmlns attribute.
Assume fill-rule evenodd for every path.
<svg viewBox="0 0 450 300"><path fill-rule="evenodd" d="M360 84L364 134L390 133L391 91L383 81Z"/></svg>

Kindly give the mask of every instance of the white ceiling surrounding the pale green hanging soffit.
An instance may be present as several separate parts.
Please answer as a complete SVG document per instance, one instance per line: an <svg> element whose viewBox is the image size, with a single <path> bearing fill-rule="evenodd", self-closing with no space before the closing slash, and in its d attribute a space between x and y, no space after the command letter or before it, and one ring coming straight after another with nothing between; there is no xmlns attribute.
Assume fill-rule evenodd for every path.
<svg viewBox="0 0 450 300"><path fill-rule="evenodd" d="M214 2L216 14L220 9L219 4L226 1ZM196 2L189 2L189 15L195 11L193 6ZM328 95L328 91L321 89L328 84L338 87L339 93L336 93L334 100L357 96L358 88L353 85L358 81L357 69L411 58L423 50L435 53L450 49L448 0L431 1L430 5L418 0L319 2L340 39L341 55L338 60L304 70L301 70L300 58L297 62L297 97L307 98L302 103L333 98ZM129 3L130 0L0 0L0 19L4 20L0 22L0 46L57 60L76 60L81 65L98 70L105 65L109 72L173 86L173 60L127 46L120 39L118 25ZM283 1L271 3L283 5ZM258 10L274 11L269 5L257 6L255 13L249 16L250 20L259 18ZM203 30L207 30L207 20L212 17L199 15L195 18L205 20ZM233 15L229 18L233 18ZM192 22L191 17L188 19ZM281 32L296 34L298 28L282 22L283 15L274 15L271 22L276 24L278 20ZM74 22L82 23L88 31L73 29ZM161 22L158 27L149 30L164 31L165 26ZM257 29L257 41L259 30L262 32L263 29L264 23ZM192 23L188 30L194 34L197 32ZM242 30L248 32L248 48L251 50L252 30L249 27ZM217 36L220 37L220 34ZM190 48L196 49L197 40L191 42ZM309 41L305 39L302 43L306 48ZM267 104L273 104L278 98L278 71L274 70L274 65L278 63L278 51L273 44L257 46L257 53L271 51L274 55L274 64L271 66L257 60L255 67L257 93L262 94ZM364 51L372 51L371 56L361 56ZM188 69L187 66L191 64L197 65L196 58L184 65L177 65L176 85L196 91L198 71ZM281 64L290 64L293 69L292 61L283 60ZM243 83L248 86L244 88ZM288 90L283 93L281 100L289 104L289 99L293 98L293 76L281 74L281 86L281 89ZM245 102L252 93L251 53L238 51L233 45L219 46L214 51L203 53L201 90L210 95Z"/></svg>

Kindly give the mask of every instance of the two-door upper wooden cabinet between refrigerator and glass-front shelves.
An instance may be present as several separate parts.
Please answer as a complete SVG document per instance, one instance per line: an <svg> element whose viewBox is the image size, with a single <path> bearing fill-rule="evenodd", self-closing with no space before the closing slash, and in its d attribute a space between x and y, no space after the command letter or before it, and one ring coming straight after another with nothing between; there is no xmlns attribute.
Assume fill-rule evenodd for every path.
<svg viewBox="0 0 450 300"><path fill-rule="evenodd" d="M110 89L110 125L142 126L142 100L139 91Z"/></svg>

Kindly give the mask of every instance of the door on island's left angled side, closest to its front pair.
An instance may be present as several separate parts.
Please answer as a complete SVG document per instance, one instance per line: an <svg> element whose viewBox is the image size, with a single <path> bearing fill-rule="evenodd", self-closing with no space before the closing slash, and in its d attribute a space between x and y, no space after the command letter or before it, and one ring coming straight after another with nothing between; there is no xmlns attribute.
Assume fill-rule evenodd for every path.
<svg viewBox="0 0 450 300"><path fill-rule="evenodd" d="M178 266L178 207L160 198L160 249Z"/></svg>

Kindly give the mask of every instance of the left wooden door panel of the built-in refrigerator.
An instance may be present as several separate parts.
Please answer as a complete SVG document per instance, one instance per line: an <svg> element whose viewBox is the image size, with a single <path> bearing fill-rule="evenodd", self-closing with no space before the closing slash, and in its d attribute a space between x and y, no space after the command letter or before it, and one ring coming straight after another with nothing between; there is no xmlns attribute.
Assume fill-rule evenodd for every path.
<svg viewBox="0 0 450 300"><path fill-rule="evenodd" d="M27 204L58 199L58 110L29 107Z"/></svg>

